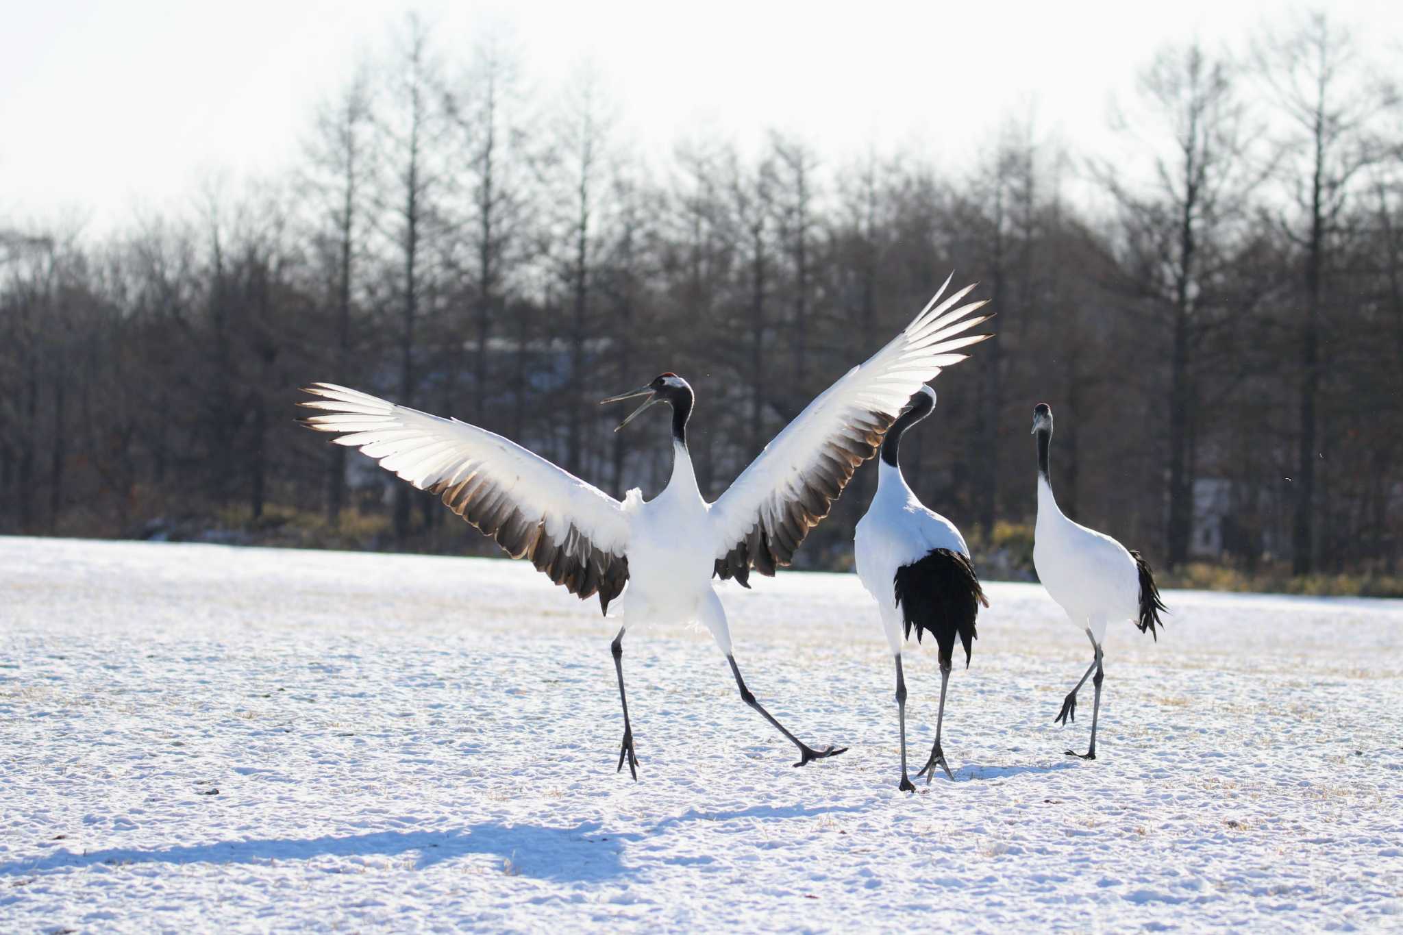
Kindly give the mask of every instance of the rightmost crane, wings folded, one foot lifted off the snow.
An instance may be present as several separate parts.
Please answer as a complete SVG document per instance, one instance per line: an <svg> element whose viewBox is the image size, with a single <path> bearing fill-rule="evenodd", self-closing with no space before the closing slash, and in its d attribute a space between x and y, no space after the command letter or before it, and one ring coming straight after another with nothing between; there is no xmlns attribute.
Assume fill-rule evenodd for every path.
<svg viewBox="0 0 1403 935"><path fill-rule="evenodd" d="M1110 535L1073 523L1058 509L1048 474L1048 449L1052 444L1052 409L1040 402L1033 409L1033 435L1038 436L1038 521L1034 528L1033 565L1038 580L1072 625L1092 641L1092 664L1062 701L1054 719L1066 725L1076 721L1076 692L1092 678L1096 701L1092 707L1092 747L1086 753L1066 751L1069 757L1096 758L1096 722L1101 714L1101 646L1111 621L1134 621L1139 631L1159 642L1155 625L1164 625L1159 613L1167 610L1159 599L1155 575L1139 552L1127 551Z"/></svg>

